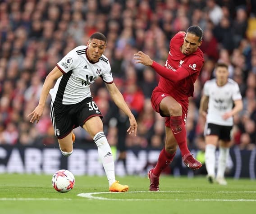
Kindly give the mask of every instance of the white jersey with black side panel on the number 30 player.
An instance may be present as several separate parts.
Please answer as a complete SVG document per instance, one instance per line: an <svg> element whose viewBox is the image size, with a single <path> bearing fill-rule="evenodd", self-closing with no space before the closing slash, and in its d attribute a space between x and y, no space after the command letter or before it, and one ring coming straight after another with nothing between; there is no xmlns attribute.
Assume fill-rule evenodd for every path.
<svg viewBox="0 0 256 214"><path fill-rule="evenodd" d="M70 105L91 96L90 85L98 77L108 84L114 82L108 58L101 55L100 60L93 63L88 59L86 51L87 46L78 46L56 64L63 75L50 89L51 98L55 102Z"/></svg>

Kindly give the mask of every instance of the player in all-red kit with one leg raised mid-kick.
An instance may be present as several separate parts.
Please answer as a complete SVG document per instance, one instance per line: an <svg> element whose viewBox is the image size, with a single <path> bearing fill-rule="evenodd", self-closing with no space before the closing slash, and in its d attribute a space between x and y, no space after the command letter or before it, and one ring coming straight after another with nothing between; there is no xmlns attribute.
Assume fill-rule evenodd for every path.
<svg viewBox="0 0 256 214"><path fill-rule="evenodd" d="M185 129L188 97L193 96L194 82L204 64L203 53L198 48L202 44L202 37L203 31L199 26L191 26L187 32L178 32L170 41L165 66L156 63L142 51L134 54L136 63L151 66L160 74L151 103L155 111L165 117L166 140L155 168L148 173L150 191L159 191L160 173L174 159L177 146L187 167L194 170L202 166L187 148Z"/></svg>

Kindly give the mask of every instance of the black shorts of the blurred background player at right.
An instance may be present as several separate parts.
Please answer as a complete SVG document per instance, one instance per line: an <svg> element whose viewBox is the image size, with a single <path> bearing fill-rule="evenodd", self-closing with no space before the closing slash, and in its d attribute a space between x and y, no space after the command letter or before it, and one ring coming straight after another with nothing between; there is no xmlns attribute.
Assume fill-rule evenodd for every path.
<svg viewBox="0 0 256 214"><path fill-rule="evenodd" d="M207 123L205 128L205 136L208 135L217 135L219 136L219 140L230 141L230 132L232 126L221 126L213 123Z"/></svg>

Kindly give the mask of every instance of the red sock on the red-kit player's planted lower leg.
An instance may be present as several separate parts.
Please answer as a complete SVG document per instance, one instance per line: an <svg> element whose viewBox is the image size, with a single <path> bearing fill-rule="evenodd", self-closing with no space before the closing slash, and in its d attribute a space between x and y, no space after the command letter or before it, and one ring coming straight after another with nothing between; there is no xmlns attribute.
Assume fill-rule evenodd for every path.
<svg viewBox="0 0 256 214"><path fill-rule="evenodd" d="M159 177L161 172L173 161L175 154L176 152L174 152L174 154L169 154L165 151L165 148L162 149L157 164L155 165L155 168L153 168L153 174Z"/></svg>

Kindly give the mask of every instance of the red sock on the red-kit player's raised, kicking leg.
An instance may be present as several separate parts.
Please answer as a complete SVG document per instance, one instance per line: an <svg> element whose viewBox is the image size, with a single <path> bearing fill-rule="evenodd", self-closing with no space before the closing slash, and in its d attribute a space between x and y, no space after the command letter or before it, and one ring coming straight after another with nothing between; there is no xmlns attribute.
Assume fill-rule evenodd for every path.
<svg viewBox="0 0 256 214"><path fill-rule="evenodd" d="M178 142L178 147L181 151L182 157L190 153L187 148L187 132L184 123L182 122L182 116L171 117L170 119L171 129L174 133L174 137Z"/></svg>

